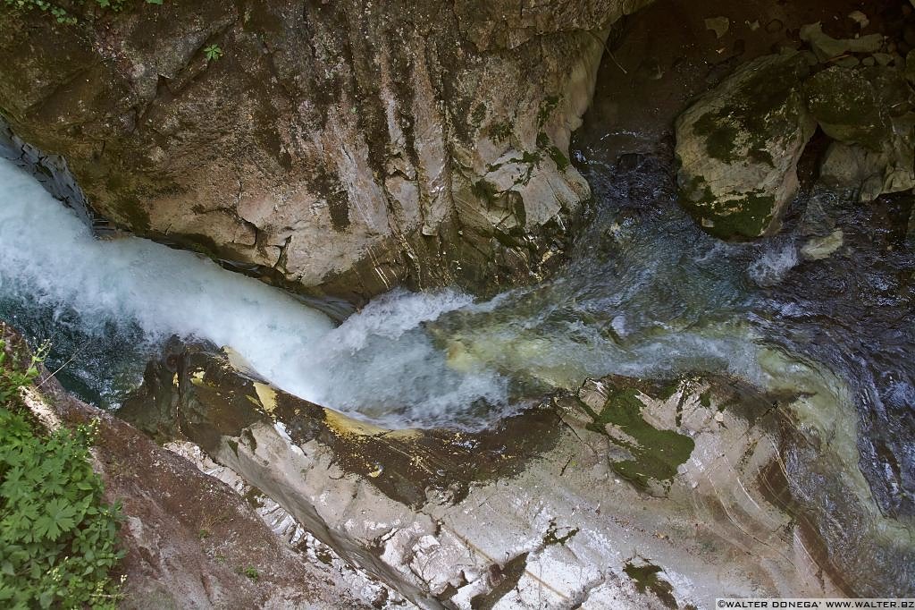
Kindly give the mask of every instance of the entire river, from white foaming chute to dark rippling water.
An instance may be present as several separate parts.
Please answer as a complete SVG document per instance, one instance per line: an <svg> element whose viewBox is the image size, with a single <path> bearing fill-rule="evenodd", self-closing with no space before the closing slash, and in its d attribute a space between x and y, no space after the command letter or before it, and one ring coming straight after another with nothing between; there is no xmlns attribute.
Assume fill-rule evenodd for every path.
<svg viewBox="0 0 915 610"><path fill-rule="evenodd" d="M726 244L677 205L670 154L612 157L576 154L595 210L553 279L492 300L395 290L339 325L202 256L99 239L0 160L0 319L113 409L175 335L389 428L484 428L588 376L737 376L790 405L807 440L784 467L830 561L886 591L915 552L910 199L812 189L780 234Z"/></svg>

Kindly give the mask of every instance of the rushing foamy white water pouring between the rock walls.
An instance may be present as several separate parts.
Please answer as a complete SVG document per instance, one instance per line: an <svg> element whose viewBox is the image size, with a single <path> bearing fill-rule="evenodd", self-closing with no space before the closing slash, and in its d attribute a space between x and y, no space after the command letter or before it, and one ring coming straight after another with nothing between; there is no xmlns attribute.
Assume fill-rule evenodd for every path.
<svg viewBox="0 0 915 610"><path fill-rule="evenodd" d="M95 239L6 160L0 295L75 311L84 332L138 327L152 343L177 334L230 346L278 387L381 422L468 424L480 399L506 402L504 378L482 367L452 370L419 328L468 306L466 295L394 292L335 328L323 313L202 256L133 237Z"/></svg>

